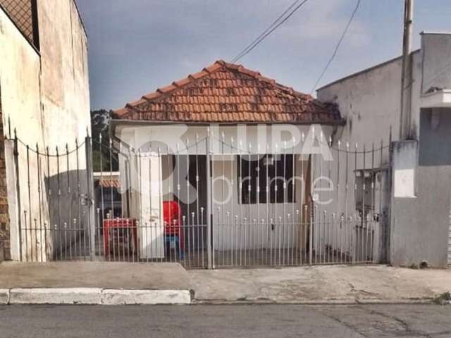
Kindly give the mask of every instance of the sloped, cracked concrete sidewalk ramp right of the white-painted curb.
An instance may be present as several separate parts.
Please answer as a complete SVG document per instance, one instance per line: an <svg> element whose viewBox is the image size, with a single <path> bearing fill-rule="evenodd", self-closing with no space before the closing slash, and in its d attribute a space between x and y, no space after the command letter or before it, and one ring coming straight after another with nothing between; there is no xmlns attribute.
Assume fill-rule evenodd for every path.
<svg viewBox="0 0 451 338"><path fill-rule="evenodd" d="M190 270L198 303L421 303L451 292L451 270L322 265Z"/></svg>

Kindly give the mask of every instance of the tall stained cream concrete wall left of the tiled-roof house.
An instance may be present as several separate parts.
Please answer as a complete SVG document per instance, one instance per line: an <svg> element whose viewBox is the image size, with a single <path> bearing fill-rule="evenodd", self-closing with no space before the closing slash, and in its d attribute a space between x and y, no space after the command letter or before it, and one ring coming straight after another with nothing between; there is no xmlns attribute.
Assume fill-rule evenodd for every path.
<svg viewBox="0 0 451 338"><path fill-rule="evenodd" d="M37 1L40 49L35 49L20 33L4 11L0 10L0 87L3 107L3 125L6 134L17 130L24 144L41 151L49 147L51 154L60 154L75 148L75 139L81 143L90 130L89 82L87 68L87 35L78 15L74 1ZM8 135L9 136L9 135ZM13 135L11 135L13 136ZM47 223L49 208L47 196L39 201L38 185L48 192L56 184L57 163L51 161L49 173L38 177L38 160L30 156L27 161L25 146L19 146L21 201L28 201L27 168L30 168L30 199L32 203L22 205L30 220L40 213ZM70 157L70 175L75 175L75 156ZM40 163L40 168L44 168ZM80 170L86 168L84 149L78 159ZM61 160L60 173L68 171L66 161ZM68 177L66 175L65 177ZM80 175L85 179L86 175ZM61 181L62 182L62 181ZM72 181L74 182L74 180ZM15 189L9 187L8 189ZM75 189L63 193L63 206L73 205ZM76 203L75 203L76 204ZM70 208L70 207L66 207ZM16 211L17 212L17 211ZM68 210L63 209L67 215ZM21 215L23 217L23 215ZM68 218L68 217L66 217ZM68 220L70 222L70 220ZM18 224L11 225L18 227ZM39 232L36 235L39 237ZM42 238L42 237L41 237ZM32 239L34 241L37 238ZM36 241L37 252L43 250L42 240ZM18 259L18 252L11 252ZM36 256L36 255L35 255ZM44 255L45 256L45 255ZM44 259L44 258L43 258Z"/></svg>

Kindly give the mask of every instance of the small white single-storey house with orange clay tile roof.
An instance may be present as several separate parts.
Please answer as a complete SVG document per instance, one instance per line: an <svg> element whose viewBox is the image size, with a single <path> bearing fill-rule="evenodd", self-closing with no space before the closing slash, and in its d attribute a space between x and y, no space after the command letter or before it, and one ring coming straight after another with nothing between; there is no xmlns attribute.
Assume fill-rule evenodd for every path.
<svg viewBox="0 0 451 338"><path fill-rule="evenodd" d="M302 148L315 126L327 147L342 122L335 105L224 61L115 111L140 258L173 255L198 268L308 263L312 156ZM171 202L183 239L168 252Z"/></svg>

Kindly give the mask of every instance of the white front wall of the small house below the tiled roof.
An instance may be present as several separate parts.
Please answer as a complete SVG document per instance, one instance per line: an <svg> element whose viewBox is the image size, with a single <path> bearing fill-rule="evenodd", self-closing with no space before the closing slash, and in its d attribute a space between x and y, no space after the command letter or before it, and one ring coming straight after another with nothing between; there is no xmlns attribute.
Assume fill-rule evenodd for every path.
<svg viewBox="0 0 451 338"><path fill-rule="evenodd" d="M294 203L260 203L260 204L241 204L238 192L238 177L237 177L237 155L247 159L249 154L249 144L252 154L284 154L283 140L288 140L288 149L286 154L293 154L293 149L290 147L290 139L296 138L296 142L299 142L294 149L295 153L295 175L301 177L303 175L304 180L308 180L308 155L301 161L299 154L302 152L303 143L300 142L302 133L307 138L309 132L311 132L311 126L309 125L278 125L273 126L273 132L270 131L268 126L211 126L211 139L216 140L212 142L213 146L211 151L215 155L211 156L212 173L214 177L225 177L225 183L222 180L216 180L212 193L214 196L214 203L211 208L213 211L214 220L214 247L220 250L228 250L240 245L242 249L257 249L257 248L269 248L271 245L282 247L302 246L305 248L305 234L307 232L302 229L300 231L300 223L302 220L302 214L304 212L304 204L306 203L306 193L304 184L299 180L295 180L295 202ZM240 130L244 128L244 130ZM266 130L266 135L264 130ZM279 134L277 130L290 130L290 132L283 132ZM333 127L323 126L323 142L327 142L329 135L331 134ZM180 167L175 165L173 175L168 180L163 182L163 200L174 199L174 194L177 190L177 175L186 175L184 171L184 165L186 163L186 154L204 156L206 153L206 126L186 126L186 125L126 125L119 124L115 129L115 136L121 139L124 144L128 144L135 151L140 149L142 153L149 151L149 146L152 144L152 151L158 151L158 147L161 149L161 154L166 154L166 145L170 146L170 154L175 154L175 161L180 163ZM316 133L319 133L318 127L316 127ZM281 135L281 136L280 136ZM265 137L266 136L266 137ZM199 144L195 146L194 140L198 137ZM223 138L224 137L224 138ZM280 141L282 137L282 141ZM224 148L221 143L218 143L218 139L224 139L226 144L232 143L235 149L230 149L230 146L226 145ZM186 149L184 144L188 141L189 148ZM178 144L178 146L177 146ZM276 150L277 145L277 150ZM268 147L268 150L266 150ZM240 149L240 150L238 150ZM259 151L258 151L259 149ZM179 153L178 153L179 151ZM232 155L232 156L231 156ZM161 158L161 170L163 176L166 176L166 172L169 168L172 169L172 162L168 156L162 156ZM123 161L120 163L120 170L124 172ZM180 169L180 171L179 171ZM185 173L185 174L183 174ZM243 173L247 176L247 173ZM264 175L264 173L261 173ZM281 175L281 173L278 173ZM144 173L142 179L146 179L148 173ZM199 177L200 180L206 180L206 177ZM230 182L233 181L233 186ZM180 180L180 195L183 198L187 198L188 193L186 189L184 177ZM305 183L308 184L308 183ZM231 191L229 190L231 187ZM135 188L136 189L136 188ZM190 188L190 196L196 196L197 192L195 187ZM222 204L223 196L227 199L225 204ZM204 207L206 205L199 205ZM219 209L218 209L219 207ZM297 213L299 211L299 213ZM230 213L227 216L227 213ZM290 218L288 218L290 213ZM293 218L293 214L295 218ZM190 215L185 215L187 220L191 219ZM247 227L238 227L235 224L235 216L238 216L238 223L241 225L244 218L247 218L247 222L255 225ZM280 220L281 218L281 220ZM264 219L264 225L261 225L261 220ZM274 224L274 230L271 230L271 223ZM188 221L187 221L188 223ZM206 213L204 214L204 223L206 223ZM233 229L233 231L232 231ZM243 229L245 229L245 232ZM295 231L298 229L299 231ZM241 232L240 232L241 231ZM245 242L243 242L245 241ZM280 243L279 243L280 242ZM272 244L271 244L272 243Z"/></svg>

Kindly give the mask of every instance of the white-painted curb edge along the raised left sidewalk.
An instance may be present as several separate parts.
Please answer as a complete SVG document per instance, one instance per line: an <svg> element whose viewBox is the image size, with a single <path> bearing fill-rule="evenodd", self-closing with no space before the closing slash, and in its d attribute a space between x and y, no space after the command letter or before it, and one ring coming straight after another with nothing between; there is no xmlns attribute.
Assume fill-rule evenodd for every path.
<svg viewBox="0 0 451 338"><path fill-rule="evenodd" d="M190 290L101 289L73 288L13 288L0 289L0 305L16 304L190 304Z"/></svg>

